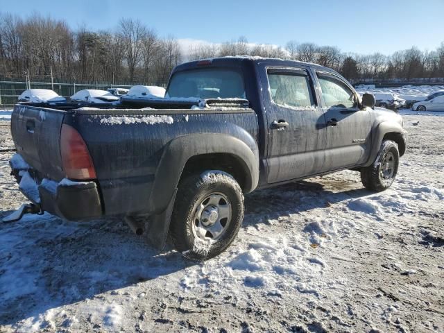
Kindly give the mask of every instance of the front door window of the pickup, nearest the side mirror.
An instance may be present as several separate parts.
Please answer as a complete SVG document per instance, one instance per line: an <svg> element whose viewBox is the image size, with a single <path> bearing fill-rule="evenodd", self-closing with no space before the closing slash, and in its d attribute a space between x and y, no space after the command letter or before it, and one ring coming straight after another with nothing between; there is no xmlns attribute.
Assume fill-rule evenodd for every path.
<svg viewBox="0 0 444 333"><path fill-rule="evenodd" d="M332 76L318 74L322 96L327 108L354 108L355 93L345 83Z"/></svg>

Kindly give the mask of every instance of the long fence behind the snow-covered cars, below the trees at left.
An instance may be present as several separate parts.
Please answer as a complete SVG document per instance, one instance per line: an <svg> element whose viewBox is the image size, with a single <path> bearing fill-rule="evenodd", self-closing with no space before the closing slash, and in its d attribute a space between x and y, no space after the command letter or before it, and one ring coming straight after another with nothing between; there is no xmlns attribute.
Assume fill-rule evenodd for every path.
<svg viewBox="0 0 444 333"><path fill-rule="evenodd" d="M8 81L0 80L0 108L12 108L18 101L18 97L22 92L28 89L51 89L60 96L69 97L79 90L83 89L100 89L106 90L109 88L126 88L129 89L133 85L110 85L110 84L86 84L86 83L46 83L46 82L31 82L24 81ZM146 84L147 85L147 84ZM153 84L148 84L153 85ZM162 84L165 87L166 84Z"/></svg>

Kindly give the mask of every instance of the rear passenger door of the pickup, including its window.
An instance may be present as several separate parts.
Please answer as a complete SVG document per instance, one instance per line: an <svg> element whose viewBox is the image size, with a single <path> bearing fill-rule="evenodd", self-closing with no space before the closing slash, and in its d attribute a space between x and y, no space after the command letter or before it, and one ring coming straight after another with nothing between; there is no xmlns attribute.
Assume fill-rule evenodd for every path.
<svg viewBox="0 0 444 333"><path fill-rule="evenodd" d="M268 183L321 172L327 139L323 110L306 68L266 68Z"/></svg>

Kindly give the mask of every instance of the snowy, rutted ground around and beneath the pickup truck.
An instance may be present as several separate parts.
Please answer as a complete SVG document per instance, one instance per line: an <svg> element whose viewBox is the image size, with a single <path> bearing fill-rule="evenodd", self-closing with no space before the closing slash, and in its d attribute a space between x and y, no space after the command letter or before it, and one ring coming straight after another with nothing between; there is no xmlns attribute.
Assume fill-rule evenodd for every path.
<svg viewBox="0 0 444 333"><path fill-rule="evenodd" d="M205 263L157 255L118 219L0 223L0 332L444 332L438 115L404 116L388 191L352 171L255 191L237 240ZM8 126L0 140L12 146ZM11 154L0 218L26 201Z"/></svg>

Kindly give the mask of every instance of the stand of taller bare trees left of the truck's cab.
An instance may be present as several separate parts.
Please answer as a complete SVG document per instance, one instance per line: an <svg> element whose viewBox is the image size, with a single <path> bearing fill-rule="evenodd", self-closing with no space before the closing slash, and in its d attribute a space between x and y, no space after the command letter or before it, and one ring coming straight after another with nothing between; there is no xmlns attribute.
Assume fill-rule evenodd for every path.
<svg viewBox="0 0 444 333"><path fill-rule="evenodd" d="M73 31L61 20L34 14L0 15L0 73L66 82L167 82L182 61L178 41L161 38L133 19L114 31Z"/></svg>

